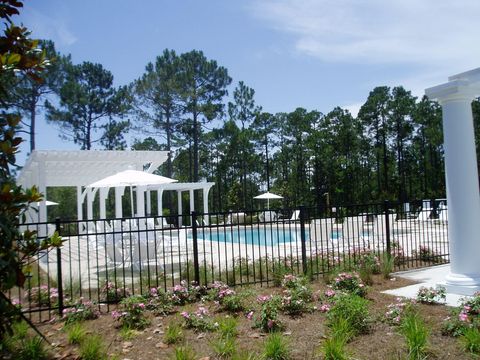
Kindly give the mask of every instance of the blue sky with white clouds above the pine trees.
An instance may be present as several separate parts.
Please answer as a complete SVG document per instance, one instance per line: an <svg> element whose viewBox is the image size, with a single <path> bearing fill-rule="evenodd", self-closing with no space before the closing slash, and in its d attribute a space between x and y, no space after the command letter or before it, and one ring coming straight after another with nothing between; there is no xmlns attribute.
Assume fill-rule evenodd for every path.
<svg viewBox="0 0 480 360"><path fill-rule="evenodd" d="M478 0L24 0L14 22L116 86L164 49L202 50L270 113L354 115L376 86L413 95L480 64ZM37 149L78 149L40 114ZM19 161L24 159L25 151Z"/></svg>

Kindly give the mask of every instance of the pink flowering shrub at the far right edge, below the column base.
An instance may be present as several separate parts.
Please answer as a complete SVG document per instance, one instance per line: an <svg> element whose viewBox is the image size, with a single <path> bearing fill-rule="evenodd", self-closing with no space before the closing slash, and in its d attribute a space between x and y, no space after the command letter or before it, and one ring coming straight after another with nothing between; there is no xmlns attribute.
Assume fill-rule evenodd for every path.
<svg viewBox="0 0 480 360"><path fill-rule="evenodd" d="M480 329L480 292L462 299L460 306L452 310L444 320L442 334L459 336L468 328Z"/></svg>

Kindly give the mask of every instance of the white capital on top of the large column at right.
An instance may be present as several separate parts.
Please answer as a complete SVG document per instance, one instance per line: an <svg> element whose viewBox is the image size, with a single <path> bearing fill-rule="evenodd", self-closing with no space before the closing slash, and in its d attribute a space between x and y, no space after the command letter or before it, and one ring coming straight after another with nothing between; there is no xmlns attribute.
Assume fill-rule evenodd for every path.
<svg viewBox="0 0 480 360"><path fill-rule="evenodd" d="M425 95L440 104L449 101L473 101L480 95L480 85L463 78L425 89Z"/></svg>

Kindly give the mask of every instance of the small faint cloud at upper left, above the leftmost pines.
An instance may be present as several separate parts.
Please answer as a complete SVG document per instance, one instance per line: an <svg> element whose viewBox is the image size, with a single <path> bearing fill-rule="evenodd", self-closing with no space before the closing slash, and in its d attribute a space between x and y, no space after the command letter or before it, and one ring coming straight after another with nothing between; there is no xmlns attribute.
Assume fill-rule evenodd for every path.
<svg viewBox="0 0 480 360"><path fill-rule="evenodd" d="M40 13L32 8L23 12L23 22L32 31L32 37L53 40L57 49L73 45L77 41L64 16Z"/></svg>

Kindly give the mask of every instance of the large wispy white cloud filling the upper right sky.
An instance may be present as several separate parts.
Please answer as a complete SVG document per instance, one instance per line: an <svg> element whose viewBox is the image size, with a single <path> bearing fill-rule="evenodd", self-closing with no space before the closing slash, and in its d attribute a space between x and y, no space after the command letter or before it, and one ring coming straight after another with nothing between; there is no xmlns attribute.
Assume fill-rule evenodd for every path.
<svg viewBox="0 0 480 360"><path fill-rule="evenodd" d="M258 0L251 11L291 34L296 51L324 61L455 73L480 59L478 0Z"/></svg>

